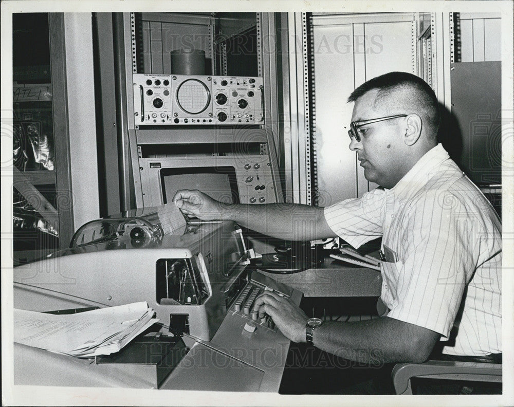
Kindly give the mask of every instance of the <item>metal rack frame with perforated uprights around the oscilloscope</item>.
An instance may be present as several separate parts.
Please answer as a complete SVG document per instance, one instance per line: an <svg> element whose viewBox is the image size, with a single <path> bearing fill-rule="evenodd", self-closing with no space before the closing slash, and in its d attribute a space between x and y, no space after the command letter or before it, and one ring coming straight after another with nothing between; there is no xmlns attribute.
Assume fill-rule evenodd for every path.
<svg viewBox="0 0 514 407"><path fill-rule="evenodd" d="M209 18L211 25L210 36L212 52L213 71L215 71L215 24L212 17ZM262 45L263 41L274 41L275 18L273 13L256 13L256 32L258 44L258 73L264 80L264 105L265 105L265 124L259 127L267 137L268 152L270 155L271 171L273 174L273 183L276 191L276 199L282 201L282 188L278 169L277 158L277 137L278 137L278 121L279 108L277 103L277 62L273 58L274 55L266 54L266 47ZM140 171L142 167L139 165L141 157L141 149L139 144L144 143L165 143L163 135L175 130L138 130L135 127L133 118L133 98L130 97L133 91L132 75L137 73L137 27L135 13L117 13L115 16L115 64L119 74L117 75L117 100L119 105L118 115L118 139L120 140L119 151L123 152L123 160L120 162L120 179L122 185L122 210L128 210L134 207L142 207L143 196L141 188ZM235 34L234 34L235 35ZM269 45L269 44L267 44ZM269 49L269 47L267 48ZM223 50L220 55L223 61ZM226 62L226 55L225 55ZM222 67L222 70L226 70ZM258 127L258 128L259 128ZM180 129L178 139L171 143L183 142L202 142L206 136L212 135L217 142L230 142L233 140L229 135L224 134L223 128L213 126L198 129ZM196 141L195 141L196 139ZM205 142L205 141L204 141ZM133 157L133 159L130 159ZM137 158L137 159L135 159Z"/></svg>

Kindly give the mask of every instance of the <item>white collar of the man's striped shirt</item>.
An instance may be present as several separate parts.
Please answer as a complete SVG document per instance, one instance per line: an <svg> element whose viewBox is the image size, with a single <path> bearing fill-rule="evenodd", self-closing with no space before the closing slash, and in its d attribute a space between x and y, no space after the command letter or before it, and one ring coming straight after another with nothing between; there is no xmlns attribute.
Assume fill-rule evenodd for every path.
<svg viewBox="0 0 514 407"><path fill-rule="evenodd" d="M434 170L438 169L449 158L450 156L443 145L437 144L425 153L389 191L399 199L407 199L419 191L430 179Z"/></svg>

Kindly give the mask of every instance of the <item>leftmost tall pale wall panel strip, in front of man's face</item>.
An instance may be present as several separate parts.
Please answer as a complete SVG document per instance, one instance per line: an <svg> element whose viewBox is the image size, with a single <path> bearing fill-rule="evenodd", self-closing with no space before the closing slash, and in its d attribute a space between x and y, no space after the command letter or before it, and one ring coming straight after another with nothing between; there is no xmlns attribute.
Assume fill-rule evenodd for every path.
<svg viewBox="0 0 514 407"><path fill-rule="evenodd" d="M352 24L315 29L314 66L318 189L324 206L356 196L356 159L347 135L352 105L346 103L355 88Z"/></svg>

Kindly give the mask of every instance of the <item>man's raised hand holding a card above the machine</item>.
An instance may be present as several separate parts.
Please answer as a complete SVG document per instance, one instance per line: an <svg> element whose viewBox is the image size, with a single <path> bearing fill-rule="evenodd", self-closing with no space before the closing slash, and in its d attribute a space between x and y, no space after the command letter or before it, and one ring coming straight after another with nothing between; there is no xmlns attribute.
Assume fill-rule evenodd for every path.
<svg viewBox="0 0 514 407"><path fill-rule="evenodd" d="M173 197L175 205L186 215L193 215L201 220L222 218L224 204L197 190L179 190Z"/></svg>

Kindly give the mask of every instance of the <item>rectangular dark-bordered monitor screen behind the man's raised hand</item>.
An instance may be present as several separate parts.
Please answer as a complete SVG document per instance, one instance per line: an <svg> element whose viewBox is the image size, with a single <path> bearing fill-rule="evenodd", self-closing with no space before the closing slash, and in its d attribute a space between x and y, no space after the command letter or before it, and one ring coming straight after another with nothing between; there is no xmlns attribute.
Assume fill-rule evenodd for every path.
<svg viewBox="0 0 514 407"><path fill-rule="evenodd" d="M240 203L234 167L164 168L160 178L164 204L181 189L197 189L225 204Z"/></svg>

